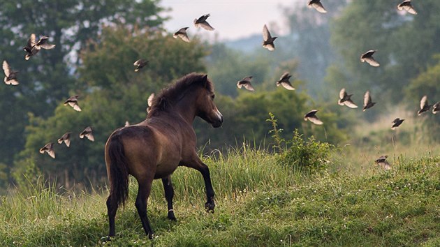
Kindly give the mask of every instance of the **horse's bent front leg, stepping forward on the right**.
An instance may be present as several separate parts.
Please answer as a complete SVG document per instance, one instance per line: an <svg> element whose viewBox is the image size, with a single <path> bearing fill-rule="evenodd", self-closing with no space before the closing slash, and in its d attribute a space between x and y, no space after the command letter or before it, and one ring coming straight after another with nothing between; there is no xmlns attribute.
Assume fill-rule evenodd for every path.
<svg viewBox="0 0 440 247"><path fill-rule="evenodd" d="M205 188L206 188L206 197L207 201L205 203L205 209L208 212L214 213L214 189L212 188L211 184L211 176L210 176L210 169L205 165L205 163L198 158L198 156L194 156L190 161L188 162L182 162L181 165L184 165L186 167L191 167L196 170L198 170L202 176L203 180L205 181Z"/></svg>

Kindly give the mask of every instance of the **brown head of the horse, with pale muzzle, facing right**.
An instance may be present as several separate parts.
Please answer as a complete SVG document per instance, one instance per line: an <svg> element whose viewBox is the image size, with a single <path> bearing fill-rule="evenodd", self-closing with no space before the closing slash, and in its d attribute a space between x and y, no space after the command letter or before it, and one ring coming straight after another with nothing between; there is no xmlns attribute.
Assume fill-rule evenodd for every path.
<svg viewBox="0 0 440 247"><path fill-rule="evenodd" d="M218 128L223 123L223 115L217 109L214 103L214 89L212 87L212 82L208 80L207 75L202 77L203 87L200 87L200 91L196 98L196 115L201 117L203 120L211 123L212 127Z"/></svg>

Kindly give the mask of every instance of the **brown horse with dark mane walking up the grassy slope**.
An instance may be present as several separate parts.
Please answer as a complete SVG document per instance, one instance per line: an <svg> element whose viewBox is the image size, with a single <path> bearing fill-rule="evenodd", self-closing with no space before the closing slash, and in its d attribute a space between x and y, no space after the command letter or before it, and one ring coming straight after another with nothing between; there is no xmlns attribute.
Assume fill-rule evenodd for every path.
<svg viewBox="0 0 440 247"><path fill-rule="evenodd" d="M115 236L116 211L125 204L129 194L129 174L138 181L135 206L150 239L153 231L147 217L147 199L153 179L162 179L168 218L175 220L170 175L179 165L194 168L203 175L207 196L205 209L214 212L210 170L196 153L196 133L193 130L196 116L214 128L223 122L223 116L214 104L212 82L207 75L191 73L154 98L145 121L119 128L110 135L105 144L105 164L110 181L107 200L109 237Z"/></svg>

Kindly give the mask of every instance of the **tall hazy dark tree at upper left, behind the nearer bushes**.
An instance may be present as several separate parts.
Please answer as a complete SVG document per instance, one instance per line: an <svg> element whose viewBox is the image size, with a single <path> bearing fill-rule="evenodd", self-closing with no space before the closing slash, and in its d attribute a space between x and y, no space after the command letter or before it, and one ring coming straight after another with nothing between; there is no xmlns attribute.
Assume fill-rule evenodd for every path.
<svg viewBox="0 0 440 247"><path fill-rule="evenodd" d="M0 163L10 167L24 147L28 112L49 117L75 90L78 52L96 40L103 24L158 28L165 20L158 0L0 1L0 57L20 70L20 84L0 87ZM31 33L50 36L53 50L24 60Z"/></svg>

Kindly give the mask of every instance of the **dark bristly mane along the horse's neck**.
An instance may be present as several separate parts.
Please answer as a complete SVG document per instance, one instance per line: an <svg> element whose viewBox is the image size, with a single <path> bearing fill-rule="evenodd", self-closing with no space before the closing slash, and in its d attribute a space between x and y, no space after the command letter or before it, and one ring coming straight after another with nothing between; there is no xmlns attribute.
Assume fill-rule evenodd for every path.
<svg viewBox="0 0 440 247"><path fill-rule="evenodd" d="M152 116L156 112L167 110L169 105L180 100L192 87L205 87L210 92L214 91L214 86L210 80L207 80L207 75L199 73L184 75L168 88L162 89L161 93L154 97L148 115Z"/></svg>

